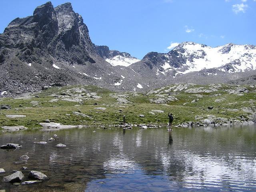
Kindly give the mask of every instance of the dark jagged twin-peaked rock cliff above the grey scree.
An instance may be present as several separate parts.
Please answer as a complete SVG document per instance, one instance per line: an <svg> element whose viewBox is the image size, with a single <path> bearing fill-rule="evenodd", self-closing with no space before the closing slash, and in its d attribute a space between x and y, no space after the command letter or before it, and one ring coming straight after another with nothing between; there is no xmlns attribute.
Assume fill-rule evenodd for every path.
<svg viewBox="0 0 256 192"><path fill-rule="evenodd" d="M95 48L88 29L70 3L56 8L51 2L38 6L33 16L13 20L0 39L1 48L17 49L16 56L23 62L36 61L33 57L50 56L63 62L95 63L90 56L95 55ZM6 53L8 50L1 49L2 62L8 56Z"/></svg>

